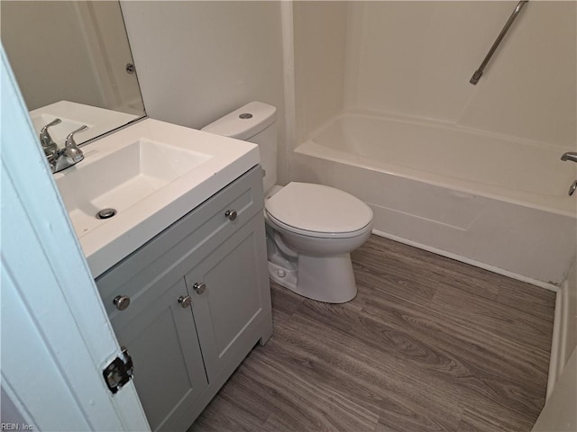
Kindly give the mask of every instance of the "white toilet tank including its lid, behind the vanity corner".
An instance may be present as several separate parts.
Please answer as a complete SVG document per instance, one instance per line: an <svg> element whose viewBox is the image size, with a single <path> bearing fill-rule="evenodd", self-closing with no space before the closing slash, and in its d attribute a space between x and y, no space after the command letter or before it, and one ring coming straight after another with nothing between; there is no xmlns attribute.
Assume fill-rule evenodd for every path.
<svg viewBox="0 0 577 432"><path fill-rule="evenodd" d="M277 182L276 118L277 109L274 106L251 102L201 130L257 144L261 153L261 166L265 172L262 182L266 192Z"/></svg>

